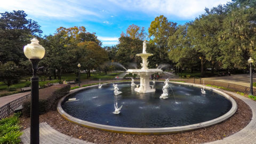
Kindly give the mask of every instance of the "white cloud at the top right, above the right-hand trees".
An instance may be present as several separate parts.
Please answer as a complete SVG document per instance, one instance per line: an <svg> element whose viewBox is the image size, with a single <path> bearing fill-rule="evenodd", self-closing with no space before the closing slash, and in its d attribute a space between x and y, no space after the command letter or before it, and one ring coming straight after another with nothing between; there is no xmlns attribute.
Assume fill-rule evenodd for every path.
<svg viewBox="0 0 256 144"><path fill-rule="evenodd" d="M195 18L204 12L205 7L211 8L226 4L231 0L108 0L128 11L142 11L150 14L175 15L179 18Z"/></svg>

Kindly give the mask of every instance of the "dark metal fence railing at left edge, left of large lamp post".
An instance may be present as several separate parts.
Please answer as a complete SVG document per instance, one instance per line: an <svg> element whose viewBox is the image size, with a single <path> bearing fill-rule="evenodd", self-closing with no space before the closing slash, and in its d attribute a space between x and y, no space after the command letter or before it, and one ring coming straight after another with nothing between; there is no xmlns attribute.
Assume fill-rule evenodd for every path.
<svg viewBox="0 0 256 144"><path fill-rule="evenodd" d="M24 95L23 97L19 98L19 99L15 99L9 103L7 103L6 105L4 105L3 107L0 108L0 119L5 118L7 116L9 116L10 114L12 114L18 107L20 107L22 105L22 103L31 97L31 94L27 94Z"/></svg>

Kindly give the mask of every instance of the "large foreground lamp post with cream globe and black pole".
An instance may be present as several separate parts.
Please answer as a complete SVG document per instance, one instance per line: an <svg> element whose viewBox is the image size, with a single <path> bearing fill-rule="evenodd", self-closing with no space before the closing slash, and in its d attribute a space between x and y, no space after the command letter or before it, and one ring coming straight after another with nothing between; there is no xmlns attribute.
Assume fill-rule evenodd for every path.
<svg viewBox="0 0 256 144"><path fill-rule="evenodd" d="M36 75L38 62L44 57L45 50L38 40L33 38L30 44L24 46L24 54L31 61L33 76L31 77L31 106L30 106L30 143L39 143L39 87Z"/></svg>

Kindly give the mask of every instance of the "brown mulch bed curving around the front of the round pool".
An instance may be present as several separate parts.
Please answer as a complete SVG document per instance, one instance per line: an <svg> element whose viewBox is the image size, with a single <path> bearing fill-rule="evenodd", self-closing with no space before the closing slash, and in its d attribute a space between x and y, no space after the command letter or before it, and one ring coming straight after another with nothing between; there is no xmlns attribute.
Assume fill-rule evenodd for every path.
<svg viewBox="0 0 256 144"><path fill-rule="evenodd" d="M226 121L207 127L184 133L164 135L138 135L105 132L89 129L70 123L62 118L57 111L49 111L40 115L40 123L47 122L55 130L74 137L94 143L202 143L220 140L242 130L252 118L252 111L246 103L232 95L238 105L236 113ZM21 118L22 129L30 127L30 119Z"/></svg>

